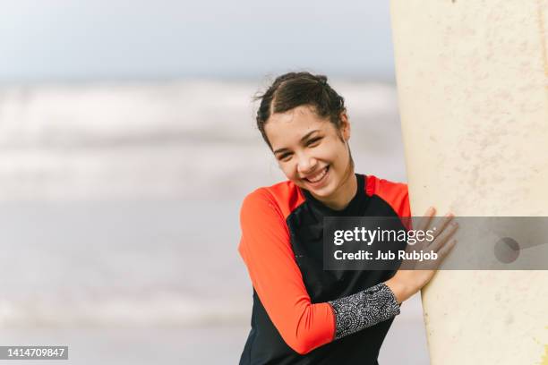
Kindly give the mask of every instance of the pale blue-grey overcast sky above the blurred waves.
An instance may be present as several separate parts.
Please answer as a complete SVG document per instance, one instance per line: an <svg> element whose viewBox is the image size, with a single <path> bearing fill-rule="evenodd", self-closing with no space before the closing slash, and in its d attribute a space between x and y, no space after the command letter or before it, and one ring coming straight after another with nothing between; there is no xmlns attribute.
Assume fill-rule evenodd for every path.
<svg viewBox="0 0 548 365"><path fill-rule="evenodd" d="M393 79L388 1L0 0L0 82Z"/></svg>

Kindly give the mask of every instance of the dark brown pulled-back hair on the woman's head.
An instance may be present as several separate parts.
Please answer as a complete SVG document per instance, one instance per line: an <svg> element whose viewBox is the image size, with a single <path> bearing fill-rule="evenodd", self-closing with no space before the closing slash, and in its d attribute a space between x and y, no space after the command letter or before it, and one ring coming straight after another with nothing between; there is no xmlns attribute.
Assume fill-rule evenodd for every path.
<svg viewBox="0 0 548 365"><path fill-rule="evenodd" d="M297 106L313 106L317 115L330 119L335 127L340 127L340 114L346 112L345 99L331 89L327 76L313 75L310 72L288 72L278 76L270 88L254 98L261 100L257 110L257 128L262 139L270 141L264 132L264 126L274 113L284 113Z"/></svg>

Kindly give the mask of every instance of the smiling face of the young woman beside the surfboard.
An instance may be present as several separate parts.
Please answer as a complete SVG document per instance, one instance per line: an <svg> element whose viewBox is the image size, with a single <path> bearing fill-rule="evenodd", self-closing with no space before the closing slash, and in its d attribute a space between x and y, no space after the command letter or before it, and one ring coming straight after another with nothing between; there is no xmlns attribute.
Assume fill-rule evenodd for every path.
<svg viewBox="0 0 548 365"><path fill-rule="evenodd" d="M312 106L297 106L270 115L265 132L287 179L330 208L347 206L354 197L356 182L347 144L350 124L346 114L341 115L337 130Z"/></svg>

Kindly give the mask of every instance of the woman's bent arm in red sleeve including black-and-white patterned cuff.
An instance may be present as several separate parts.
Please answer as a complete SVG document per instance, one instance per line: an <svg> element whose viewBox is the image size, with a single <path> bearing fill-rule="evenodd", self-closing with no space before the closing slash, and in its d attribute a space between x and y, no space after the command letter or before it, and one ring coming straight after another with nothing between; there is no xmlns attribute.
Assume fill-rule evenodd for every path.
<svg viewBox="0 0 548 365"><path fill-rule="evenodd" d="M295 263L282 212L269 191L244 199L238 250L270 320L295 352L304 354L399 313L387 284L335 301L312 303Z"/></svg>

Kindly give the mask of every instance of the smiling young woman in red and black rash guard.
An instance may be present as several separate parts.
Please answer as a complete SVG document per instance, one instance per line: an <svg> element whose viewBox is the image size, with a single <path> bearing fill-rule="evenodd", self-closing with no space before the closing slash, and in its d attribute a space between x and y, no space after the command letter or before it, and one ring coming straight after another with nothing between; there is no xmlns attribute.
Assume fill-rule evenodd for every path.
<svg viewBox="0 0 548 365"><path fill-rule="evenodd" d="M323 270L323 217L411 216L407 185L355 174L344 99L325 76L284 74L259 99L257 126L288 180L253 191L242 206L238 250L253 313L240 364L377 364L400 304L436 267ZM440 257L454 244L450 218L429 246Z"/></svg>

